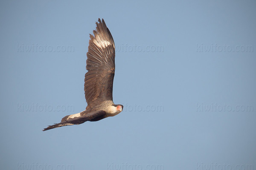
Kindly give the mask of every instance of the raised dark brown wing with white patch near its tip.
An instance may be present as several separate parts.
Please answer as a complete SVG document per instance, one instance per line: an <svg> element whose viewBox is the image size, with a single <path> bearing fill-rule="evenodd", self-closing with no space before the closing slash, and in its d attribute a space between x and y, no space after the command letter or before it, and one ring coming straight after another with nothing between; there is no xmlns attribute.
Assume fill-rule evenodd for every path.
<svg viewBox="0 0 256 170"><path fill-rule="evenodd" d="M104 20L96 22L96 30L90 34L84 94L87 110L105 101L113 100L113 79L115 74L115 44Z"/></svg>

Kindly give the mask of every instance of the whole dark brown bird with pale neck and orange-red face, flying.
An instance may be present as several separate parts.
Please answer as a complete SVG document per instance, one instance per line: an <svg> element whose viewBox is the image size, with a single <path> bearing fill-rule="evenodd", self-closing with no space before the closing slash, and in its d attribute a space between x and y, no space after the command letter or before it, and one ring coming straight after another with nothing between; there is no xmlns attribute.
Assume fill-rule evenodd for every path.
<svg viewBox="0 0 256 170"><path fill-rule="evenodd" d="M109 116L116 116L123 110L123 105L113 103L113 79L115 74L115 43L105 24L99 19L96 30L90 34L84 94L87 102L85 111L67 115L60 123L50 125L43 131L56 127L79 125L86 121L99 121Z"/></svg>

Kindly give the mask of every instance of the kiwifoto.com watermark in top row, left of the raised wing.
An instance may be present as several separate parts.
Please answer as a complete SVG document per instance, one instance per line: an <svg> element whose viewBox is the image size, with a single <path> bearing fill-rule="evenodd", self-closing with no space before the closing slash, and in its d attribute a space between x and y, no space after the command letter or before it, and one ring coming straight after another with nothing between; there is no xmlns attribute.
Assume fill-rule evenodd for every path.
<svg viewBox="0 0 256 170"><path fill-rule="evenodd" d="M57 53L72 53L75 52L73 45L39 45L39 44L17 44L17 52L20 53L46 53L46 52L57 52Z"/></svg>

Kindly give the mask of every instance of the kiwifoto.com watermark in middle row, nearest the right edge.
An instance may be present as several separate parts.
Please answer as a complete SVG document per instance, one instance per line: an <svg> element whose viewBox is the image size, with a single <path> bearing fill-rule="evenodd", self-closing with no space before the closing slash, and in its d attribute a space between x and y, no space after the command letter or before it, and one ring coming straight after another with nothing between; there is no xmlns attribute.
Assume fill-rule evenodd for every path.
<svg viewBox="0 0 256 170"><path fill-rule="evenodd" d="M253 105L226 105L226 104L204 104L197 103L197 112L253 112Z"/></svg>

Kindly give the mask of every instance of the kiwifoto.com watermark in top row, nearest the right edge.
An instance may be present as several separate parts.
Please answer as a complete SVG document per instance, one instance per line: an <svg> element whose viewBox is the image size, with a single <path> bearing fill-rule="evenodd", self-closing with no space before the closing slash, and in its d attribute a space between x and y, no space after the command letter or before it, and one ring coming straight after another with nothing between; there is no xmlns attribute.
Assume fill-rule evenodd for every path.
<svg viewBox="0 0 256 170"><path fill-rule="evenodd" d="M252 53L254 51L253 45L220 45L220 44L196 44L196 52L205 53Z"/></svg>

